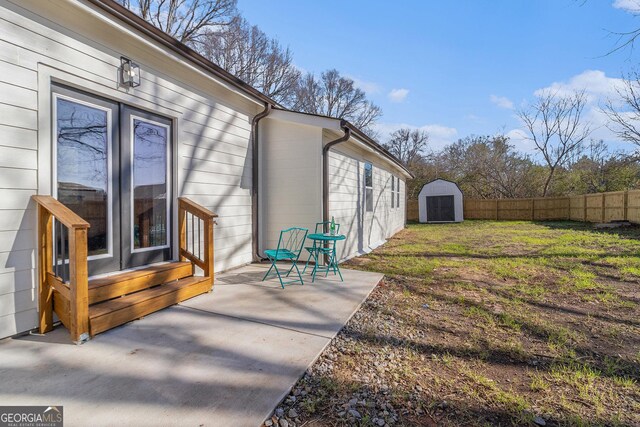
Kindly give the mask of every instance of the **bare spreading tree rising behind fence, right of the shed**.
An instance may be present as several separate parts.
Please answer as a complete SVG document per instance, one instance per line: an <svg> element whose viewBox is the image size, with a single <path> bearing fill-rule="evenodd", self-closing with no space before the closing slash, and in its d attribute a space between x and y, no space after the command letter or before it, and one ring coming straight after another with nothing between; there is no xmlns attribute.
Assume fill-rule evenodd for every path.
<svg viewBox="0 0 640 427"><path fill-rule="evenodd" d="M585 105L584 91L569 95L546 91L518 111L528 131L527 139L535 144L548 168L543 197L556 170L580 154L583 142L591 134L591 126L583 118Z"/></svg>

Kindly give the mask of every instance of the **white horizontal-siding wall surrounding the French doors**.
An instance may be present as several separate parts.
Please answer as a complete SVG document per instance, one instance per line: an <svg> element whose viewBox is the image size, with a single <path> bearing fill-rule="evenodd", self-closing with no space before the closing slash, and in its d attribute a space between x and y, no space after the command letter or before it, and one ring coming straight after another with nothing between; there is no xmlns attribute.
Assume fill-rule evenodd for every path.
<svg viewBox="0 0 640 427"><path fill-rule="evenodd" d="M140 87L118 87L121 55L140 64ZM219 215L216 271L251 261L250 128L260 105L88 4L0 0L0 338L36 326L30 197L55 182L54 81L171 118L174 196Z"/></svg>

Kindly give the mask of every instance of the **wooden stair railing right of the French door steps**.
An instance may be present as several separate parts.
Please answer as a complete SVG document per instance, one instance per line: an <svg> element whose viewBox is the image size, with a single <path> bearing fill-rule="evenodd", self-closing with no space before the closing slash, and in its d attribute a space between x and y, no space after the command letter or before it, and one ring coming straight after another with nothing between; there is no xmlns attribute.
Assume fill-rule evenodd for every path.
<svg viewBox="0 0 640 427"><path fill-rule="evenodd" d="M189 249L187 247L187 213L193 215L193 217L198 218L202 221L202 228L200 228L200 223L198 223L198 239L200 239L200 231L203 232L203 244L202 251L200 251L200 241L198 240L197 244L197 252L196 250L196 242L195 242L195 223L192 219L191 222L191 238L192 238L192 247ZM211 279L211 285L213 286L213 226L215 224L215 218L218 215L211 212L209 209L200 206L196 202L187 199L186 197L178 198L178 234L180 237L180 258L188 259L193 264L202 268L204 271L205 277L209 277Z"/></svg>

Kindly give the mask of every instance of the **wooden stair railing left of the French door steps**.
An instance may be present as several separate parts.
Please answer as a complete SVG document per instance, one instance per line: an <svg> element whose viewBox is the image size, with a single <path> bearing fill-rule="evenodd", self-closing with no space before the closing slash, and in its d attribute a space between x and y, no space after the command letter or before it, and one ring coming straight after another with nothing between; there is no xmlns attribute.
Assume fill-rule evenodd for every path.
<svg viewBox="0 0 640 427"><path fill-rule="evenodd" d="M53 329L54 290L67 303L68 309L57 312L66 322L72 341L89 339L89 270L87 234L89 223L51 196L31 196L38 204L38 279L39 329L45 333ZM69 284L55 276L53 270L53 219L69 230ZM56 296L57 298L57 296ZM62 310L62 308L60 308Z"/></svg>

